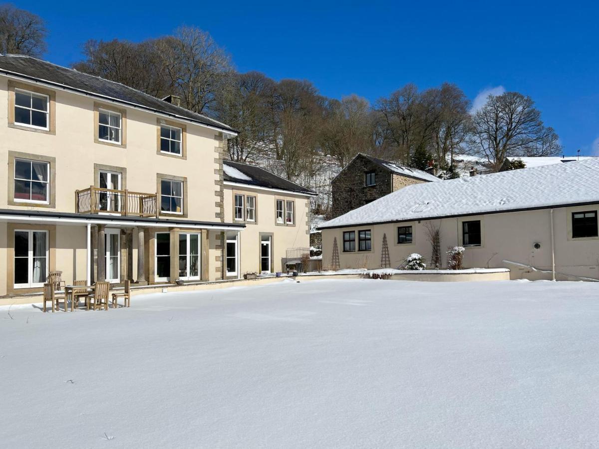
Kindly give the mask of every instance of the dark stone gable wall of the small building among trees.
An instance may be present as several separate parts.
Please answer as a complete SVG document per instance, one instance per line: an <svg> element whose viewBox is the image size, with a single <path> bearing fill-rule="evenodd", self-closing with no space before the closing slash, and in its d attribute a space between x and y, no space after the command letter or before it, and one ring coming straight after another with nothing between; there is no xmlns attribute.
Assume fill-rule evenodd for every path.
<svg viewBox="0 0 599 449"><path fill-rule="evenodd" d="M364 186L364 176L369 171L376 173L374 186ZM332 218L391 193L392 176L391 171L366 157L353 159L332 181Z"/></svg>

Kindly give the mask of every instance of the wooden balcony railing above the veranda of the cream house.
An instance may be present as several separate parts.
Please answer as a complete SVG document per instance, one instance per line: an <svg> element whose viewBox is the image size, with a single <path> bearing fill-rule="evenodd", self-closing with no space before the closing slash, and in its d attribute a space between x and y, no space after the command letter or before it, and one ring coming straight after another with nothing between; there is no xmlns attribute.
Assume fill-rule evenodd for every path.
<svg viewBox="0 0 599 449"><path fill-rule="evenodd" d="M87 187L75 190L75 211L79 214L117 214L157 217L156 193Z"/></svg>

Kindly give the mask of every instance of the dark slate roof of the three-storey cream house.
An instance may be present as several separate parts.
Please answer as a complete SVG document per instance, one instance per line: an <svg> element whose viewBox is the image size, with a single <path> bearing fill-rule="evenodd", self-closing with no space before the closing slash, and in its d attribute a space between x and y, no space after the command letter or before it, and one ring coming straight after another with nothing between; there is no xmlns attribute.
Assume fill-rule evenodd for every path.
<svg viewBox="0 0 599 449"><path fill-rule="evenodd" d="M190 120L201 125L211 126L226 132L236 132L230 126L217 122L201 114L193 113L174 104L132 89L125 84L115 83L104 78L78 72L51 62L22 54L0 53L0 74L17 75L66 90L88 93L101 99L110 99L126 105L141 107L152 112Z"/></svg>

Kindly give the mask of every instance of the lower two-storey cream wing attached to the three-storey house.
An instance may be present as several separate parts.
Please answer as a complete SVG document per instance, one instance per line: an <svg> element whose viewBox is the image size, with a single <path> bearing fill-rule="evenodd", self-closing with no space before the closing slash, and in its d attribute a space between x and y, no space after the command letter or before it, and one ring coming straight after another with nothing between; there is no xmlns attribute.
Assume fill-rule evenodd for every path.
<svg viewBox="0 0 599 449"><path fill-rule="evenodd" d="M257 166L230 161L223 165L225 220L246 225L239 242L241 272L285 271L287 262L309 254L310 198L316 193ZM229 268L235 244L229 233ZM234 277L229 268L226 276Z"/></svg>

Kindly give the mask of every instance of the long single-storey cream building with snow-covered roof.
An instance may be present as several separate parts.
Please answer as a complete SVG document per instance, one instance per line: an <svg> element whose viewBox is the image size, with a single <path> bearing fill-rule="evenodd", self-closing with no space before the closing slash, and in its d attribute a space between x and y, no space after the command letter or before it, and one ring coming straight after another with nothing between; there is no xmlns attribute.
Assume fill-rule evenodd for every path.
<svg viewBox="0 0 599 449"><path fill-rule="evenodd" d="M438 268L463 245L465 268L599 279L598 214L599 158L414 184L322 223L323 267L380 268L383 237L392 268L412 253L430 260L428 232L438 229Z"/></svg>

